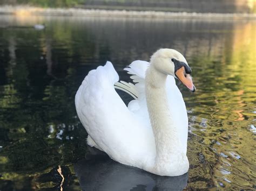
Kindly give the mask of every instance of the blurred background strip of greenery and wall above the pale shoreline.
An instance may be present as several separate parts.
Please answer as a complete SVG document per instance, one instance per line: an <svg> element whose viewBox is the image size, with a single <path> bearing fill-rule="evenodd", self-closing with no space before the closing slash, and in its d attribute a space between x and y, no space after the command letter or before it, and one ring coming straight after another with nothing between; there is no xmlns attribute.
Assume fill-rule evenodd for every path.
<svg viewBox="0 0 256 191"><path fill-rule="evenodd" d="M256 13L254 0L0 0L0 4L24 4L44 8L154 10L171 12Z"/></svg>

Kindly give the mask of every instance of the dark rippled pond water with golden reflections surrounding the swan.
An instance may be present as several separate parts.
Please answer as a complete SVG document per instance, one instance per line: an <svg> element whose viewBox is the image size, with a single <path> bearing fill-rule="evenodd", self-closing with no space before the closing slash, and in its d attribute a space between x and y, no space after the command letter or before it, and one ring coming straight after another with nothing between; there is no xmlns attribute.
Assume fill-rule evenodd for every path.
<svg viewBox="0 0 256 191"><path fill-rule="evenodd" d="M45 29L35 30L37 23ZM255 21L241 20L1 16L0 189L101 182L158 190L179 181L177 189L255 189L255 31ZM167 179L106 157L90 160L96 151L86 146L74 104L79 84L106 60L129 80L122 69L160 47L185 55L197 87L190 93L178 82L189 118L188 174Z"/></svg>

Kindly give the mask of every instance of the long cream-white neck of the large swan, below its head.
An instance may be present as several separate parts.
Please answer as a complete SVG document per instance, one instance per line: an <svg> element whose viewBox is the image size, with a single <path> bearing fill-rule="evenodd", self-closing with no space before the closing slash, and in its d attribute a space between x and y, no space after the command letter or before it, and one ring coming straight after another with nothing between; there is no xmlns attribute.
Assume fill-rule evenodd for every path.
<svg viewBox="0 0 256 191"><path fill-rule="evenodd" d="M156 142L155 165L170 164L180 155L180 139L169 111L165 83L167 75L150 66L146 72L145 94L147 109ZM186 155L186 153L185 153Z"/></svg>

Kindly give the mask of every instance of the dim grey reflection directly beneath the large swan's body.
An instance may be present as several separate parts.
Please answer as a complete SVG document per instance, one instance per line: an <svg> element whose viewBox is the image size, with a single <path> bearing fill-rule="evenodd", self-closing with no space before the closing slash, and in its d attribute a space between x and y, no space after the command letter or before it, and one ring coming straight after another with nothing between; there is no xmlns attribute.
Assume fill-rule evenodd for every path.
<svg viewBox="0 0 256 191"><path fill-rule="evenodd" d="M80 160L75 172L82 190L183 190L187 173L158 176L142 169L119 164L109 157Z"/></svg>

